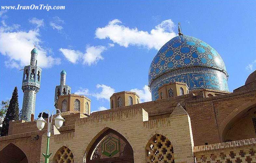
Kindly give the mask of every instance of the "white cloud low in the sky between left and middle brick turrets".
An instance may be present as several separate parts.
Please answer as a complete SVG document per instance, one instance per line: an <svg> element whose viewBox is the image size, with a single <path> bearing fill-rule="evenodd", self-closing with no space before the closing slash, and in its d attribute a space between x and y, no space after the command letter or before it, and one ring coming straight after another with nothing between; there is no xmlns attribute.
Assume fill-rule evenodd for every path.
<svg viewBox="0 0 256 163"><path fill-rule="evenodd" d="M106 99L110 101L110 96L112 96L112 94L115 93L115 89L104 84L97 84L96 87L102 88L101 92L92 94L92 96L96 97L97 100Z"/></svg>

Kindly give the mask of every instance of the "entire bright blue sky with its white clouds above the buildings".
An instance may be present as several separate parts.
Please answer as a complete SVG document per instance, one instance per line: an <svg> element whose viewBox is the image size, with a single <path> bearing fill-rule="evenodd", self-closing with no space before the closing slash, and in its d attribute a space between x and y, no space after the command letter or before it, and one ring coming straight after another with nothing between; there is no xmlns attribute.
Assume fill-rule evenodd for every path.
<svg viewBox="0 0 256 163"><path fill-rule="evenodd" d="M72 93L91 99L92 111L109 108L114 92L151 99L148 70L161 45L177 35L199 38L222 56L229 91L256 69L256 1L1 1L0 5L65 6L64 10L1 10L0 100L19 90L35 44L42 68L36 113L53 109L61 70ZM40 58L40 59L39 59ZM99 95L100 94L100 95Z"/></svg>

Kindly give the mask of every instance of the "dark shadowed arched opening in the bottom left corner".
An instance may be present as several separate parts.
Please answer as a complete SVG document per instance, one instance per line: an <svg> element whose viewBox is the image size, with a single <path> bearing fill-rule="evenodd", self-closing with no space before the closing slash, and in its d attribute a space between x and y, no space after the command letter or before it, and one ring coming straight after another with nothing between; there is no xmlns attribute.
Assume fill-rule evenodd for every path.
<svg viewBox="0 0 256 163"><path fill-rule="evenodd" d="M28 158L19 147L10 143L0 151L0 162L28 163Z"/></svg>

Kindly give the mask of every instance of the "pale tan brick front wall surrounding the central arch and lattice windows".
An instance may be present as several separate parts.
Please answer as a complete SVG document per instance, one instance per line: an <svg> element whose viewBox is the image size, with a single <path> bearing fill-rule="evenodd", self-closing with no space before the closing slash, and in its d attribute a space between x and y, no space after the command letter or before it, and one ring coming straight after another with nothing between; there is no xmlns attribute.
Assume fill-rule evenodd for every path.
<svg viewBox="0 0 256 163"><path fill-rule="evenodd" d="M133 148L135 163L145 163L145 146L156 133L166 136L171 141L176 163L194 161L192 133L189 129L189 116L186 113L144 122L143 119L145 120L145 115L141 108L77 119L75 132L55 135L50 138L50 152L54 155L59 148L66 146L72 151L74 162L81 163L85 153L100 136L99 133L111 128L128 140ZM43 136L41 151L46 150L46 138ZM41 156L41 163L43 162L44 159Z"/></svg>

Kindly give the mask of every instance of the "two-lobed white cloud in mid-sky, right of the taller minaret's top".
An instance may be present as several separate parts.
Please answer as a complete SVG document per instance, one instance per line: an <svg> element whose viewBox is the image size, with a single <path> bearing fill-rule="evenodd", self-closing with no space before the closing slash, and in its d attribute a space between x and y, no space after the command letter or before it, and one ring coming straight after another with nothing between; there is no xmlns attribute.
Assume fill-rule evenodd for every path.
<svg viewBox="0 0 256 163"><path fill-rule="evenodd" d="M91 64L96 64L99 60L103 60L101 53L106 49L104 46L87 46L85 53L64 48L59 50L71 63L77 63L81 59L83 64L90 66Z"/></svg>

